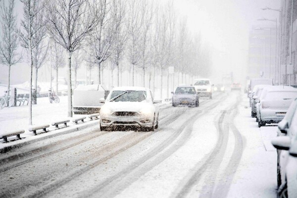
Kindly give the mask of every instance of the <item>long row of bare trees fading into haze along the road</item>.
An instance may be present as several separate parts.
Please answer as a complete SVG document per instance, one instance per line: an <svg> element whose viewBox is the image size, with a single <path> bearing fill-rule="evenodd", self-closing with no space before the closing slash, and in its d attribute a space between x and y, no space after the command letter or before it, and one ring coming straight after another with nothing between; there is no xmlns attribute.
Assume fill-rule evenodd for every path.
<svg viewBox="0 0 297 198"><path fill-rule="evenodd" d="M169 82L167 71L169 66L174 66L178 73L191 75L204 75L210 71L210 48L202 43L199 35L189 31L186 18L178 16L173 0L168 0L165 4L156 0L21 0L21 2L24 5L24 16L20 30L17 28L13 12L14 0L9 0L8 6L4 3L1 6L3 9L1 18L5 19L10 14L12 19L2 20L4 28L0 41L0 60L9 68L19 62L20 56L16 53L16 49L17 41L21 41L21 46L27 51L31 68L30 124L32 124L33 68L35 67L37 74L38 69L48 59L51 60L51 67L56 70L56 80L58 69L66 65L69 117L72 117L71 72L75 72L76 79L76 72L82 61L88 66L90 76L91 69L98 68L99 83L104 78L101 74L102 64L105 61L112 63L111 70L117 70L118 86L119 74L123 70L131 73L132 86L136 85L136 72L142 72L141 86L148 84L153 88L155 75L160 75L161 92L166 75ZM13 37L12 41L7 41L8 37ZM7 55L7 52L10 54Z"/></svg>

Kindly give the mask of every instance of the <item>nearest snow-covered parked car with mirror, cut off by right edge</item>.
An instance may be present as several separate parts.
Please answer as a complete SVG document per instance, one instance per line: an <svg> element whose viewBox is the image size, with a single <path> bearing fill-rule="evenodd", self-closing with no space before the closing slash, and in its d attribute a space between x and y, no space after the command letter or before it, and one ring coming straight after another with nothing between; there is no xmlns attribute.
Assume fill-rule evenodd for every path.
<svg viewBox="0 0 297 198"><path fill-rule="evenodd" d="M277 183L280 198L297 197L297 99L291 103L278 124L278 137L271 141L277 148Z"/></svg>

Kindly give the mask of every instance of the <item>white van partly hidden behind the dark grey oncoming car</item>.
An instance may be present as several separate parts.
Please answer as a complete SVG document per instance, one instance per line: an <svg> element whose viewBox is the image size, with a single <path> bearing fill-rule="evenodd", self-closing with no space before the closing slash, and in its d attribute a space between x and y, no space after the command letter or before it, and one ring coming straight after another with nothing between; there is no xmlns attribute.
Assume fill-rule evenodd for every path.
<svg viewBox="0 0 297 198"><path fill-rule="evenodd" d="M208 97L212 99L212 84L207 78L195 79L194 87L196 92L199 93L199 97Z"/></svg>

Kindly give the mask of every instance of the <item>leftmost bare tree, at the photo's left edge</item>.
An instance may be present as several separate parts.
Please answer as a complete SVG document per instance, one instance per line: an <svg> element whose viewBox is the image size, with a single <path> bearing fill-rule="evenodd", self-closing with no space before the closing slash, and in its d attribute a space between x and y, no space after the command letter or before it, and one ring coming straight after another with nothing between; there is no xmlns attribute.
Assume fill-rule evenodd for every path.
<svg viewBox="0 0 297 198"><path fill-rule="evenodd" d="M13 13L14 0L10 0L8 6L0 5L1 8L1 41L0 41L0 62L8 66L7 95L10 95L10 69L11 66L20 62L21 55L17 54L18 29L16 26L16 15ZM7 105L8 105L7 101Z"/></svg>

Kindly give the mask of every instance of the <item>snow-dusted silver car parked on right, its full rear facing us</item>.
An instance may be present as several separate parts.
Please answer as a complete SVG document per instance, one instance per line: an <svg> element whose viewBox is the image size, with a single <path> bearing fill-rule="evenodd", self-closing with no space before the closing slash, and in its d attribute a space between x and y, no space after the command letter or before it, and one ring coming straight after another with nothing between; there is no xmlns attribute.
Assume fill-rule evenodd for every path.
<svg viewBox="0 0 297 198"><path fill-rule="evenodd" d="M285 117L292 101L297 98L297 89L289 86L269 86L255 99L258 127L279 123Z"/></svg>

